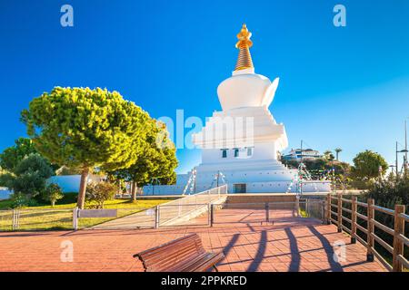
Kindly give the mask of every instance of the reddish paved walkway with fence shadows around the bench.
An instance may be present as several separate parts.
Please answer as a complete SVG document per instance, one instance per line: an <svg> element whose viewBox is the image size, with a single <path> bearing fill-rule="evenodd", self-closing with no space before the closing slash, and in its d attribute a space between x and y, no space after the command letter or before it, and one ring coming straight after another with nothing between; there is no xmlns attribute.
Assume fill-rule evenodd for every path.
<svg viewBox="0 0 409 290"><path fill-rule="evenodd" d="M0 233L0 271L142 271L135 253L189 233L199 234L207 250L224 251L220 271L385 271L376 260L366 262L366 249L349 244L334 226L285 212L262 224L261 212L223 209L214 227ZM339 262L335 242L345 244ZM69 252L61 247L70 243L74 260L63 262Z"/></svg>

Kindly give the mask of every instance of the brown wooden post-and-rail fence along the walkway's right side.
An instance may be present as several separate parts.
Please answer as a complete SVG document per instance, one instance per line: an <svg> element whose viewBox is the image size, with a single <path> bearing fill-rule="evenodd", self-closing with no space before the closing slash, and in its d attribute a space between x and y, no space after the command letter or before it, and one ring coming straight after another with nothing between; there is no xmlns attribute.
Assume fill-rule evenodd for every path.
<svg viewBox="0 0 409 290"><path fill-rule="evenodd" d="M394 209L383 208L374 205L373 198L369 198L364 203L358 201L356 197L343 198L342 194L336 196L328 194L325 204L326 221L334 223L338 227L338 232L344 230L350 234L352 244L356 243L356 240L363 244L367 249L367 261L374 261L374 256L376 256L390 271L402 272L404 267L409 268L409 263L404 257L404 246L409 247L409 239L404 236L405 222L409 221L409 216L404 214L404 205L395 205ZM350 208L345 208L344 205L346 204L350 205ZM360 213L360 209L366 211L366 215ZM345 217L344 212L348 213L350 218ZM394 218L394 228L387 227L376 220L375 212L381 212ZM366 227L362 226L358 220L363 220ZM345 223L349 224L350 227L347 227ZM375 234L375 227L393 237L393 246ZM360 237L358 231L366 236L366 240ZM375 250L375 242L392 254L392 266L384 259L384 256Z"/></svg>

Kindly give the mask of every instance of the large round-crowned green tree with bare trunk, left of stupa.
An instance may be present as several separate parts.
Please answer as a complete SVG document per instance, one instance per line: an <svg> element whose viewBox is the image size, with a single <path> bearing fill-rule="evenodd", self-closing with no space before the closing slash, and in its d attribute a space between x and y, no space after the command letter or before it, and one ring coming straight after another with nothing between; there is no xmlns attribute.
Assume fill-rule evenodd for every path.
<svg viewBox="0 0 409 290"><path fill-rule="evenodd" d="M61 88L45 92L22 111L35 149L48 160L81 169L78 208L84 208L90 170L121 169L135 163L149 115L119 92Z"/></svg>

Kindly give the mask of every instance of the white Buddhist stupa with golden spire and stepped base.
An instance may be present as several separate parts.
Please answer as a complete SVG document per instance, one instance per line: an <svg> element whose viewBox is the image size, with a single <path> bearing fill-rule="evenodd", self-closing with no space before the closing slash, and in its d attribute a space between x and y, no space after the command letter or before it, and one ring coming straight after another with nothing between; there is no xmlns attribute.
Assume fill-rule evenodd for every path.
<svg viewBox="0 0 409 290"><path fill-rule="evenodd" d="M298 170L279 161L279 152L288 146L284 124L277 124L268 109L279 79L271 82L254 73L250 37L244 24L237 34L239 55L233 75L217 88L223 111L214 111L203 130L193 135L194 144L202 149L202 163L189 174L178 175L175 186L145 187L145 194L199 192L224 183L230 193L299 191ZM304 192L330 191L329 182L302 186Z"/></svg>

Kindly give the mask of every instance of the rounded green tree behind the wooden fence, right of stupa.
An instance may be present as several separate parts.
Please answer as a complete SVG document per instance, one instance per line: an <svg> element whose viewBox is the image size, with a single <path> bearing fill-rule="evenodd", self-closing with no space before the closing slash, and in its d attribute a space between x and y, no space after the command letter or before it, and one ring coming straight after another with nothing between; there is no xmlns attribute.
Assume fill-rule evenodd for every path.
<svg viewBox="0 0 409 290"><path fill-rule="evenodd" d="M383 175L388 169L388 163L386 163L384 157L371 150L358 153L353 161L352 173L354 178L360 180L377 178L379 173ZM379 169L381 169L381 172Z"/></svg>

